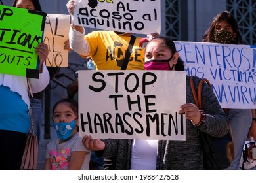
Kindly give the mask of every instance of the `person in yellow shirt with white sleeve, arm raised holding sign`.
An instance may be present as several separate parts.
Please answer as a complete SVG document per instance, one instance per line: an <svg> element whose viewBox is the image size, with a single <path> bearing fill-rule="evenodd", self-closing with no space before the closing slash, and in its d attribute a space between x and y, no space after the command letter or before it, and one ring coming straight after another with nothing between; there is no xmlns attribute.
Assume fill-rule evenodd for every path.
<svg viewBox="0 0 256 183"><path fill-rule="evenodd" d="M73 16L74 7L75 1L68 1L67 8L71 16ZM148 35L148 37L154 35ZM72 20L69 38L70 48L84 58L91 56L96 70L144 70L144 48L140 47L141 37L134 37L132 33L102 30L85 35L85 29L74 25ZM130 42L131 38L135 39L134 43ZM131 56L128 57L129 47ZM123 64L125 60L128 60L127 67Z"/></svg>

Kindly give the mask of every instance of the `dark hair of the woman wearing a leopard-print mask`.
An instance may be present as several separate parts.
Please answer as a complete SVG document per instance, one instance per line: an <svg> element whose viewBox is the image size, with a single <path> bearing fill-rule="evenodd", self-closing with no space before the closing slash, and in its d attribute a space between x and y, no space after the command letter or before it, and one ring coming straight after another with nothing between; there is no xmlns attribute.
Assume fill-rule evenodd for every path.
<svg viewBox="0 0 256 183"><path fill-rule="evenodd" d="M211 22L209 29L207 29L203 35L202 42L213 42L213 32L215 31L215 26L223 20L226 21L232 27L234 33L236 33L236 37L234 37L231 44L242 44L242 37L238 29L238 22L236 22L234 16L232 16L232 14L230 14L228 11L221 12L213 18L213 22Z"/></svg>

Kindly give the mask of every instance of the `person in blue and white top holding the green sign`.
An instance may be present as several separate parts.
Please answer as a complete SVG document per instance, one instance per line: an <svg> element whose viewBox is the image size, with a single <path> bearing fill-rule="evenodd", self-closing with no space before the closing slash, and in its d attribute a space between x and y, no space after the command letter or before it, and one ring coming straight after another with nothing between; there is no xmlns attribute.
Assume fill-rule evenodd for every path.
<svg viewBox="0 0 256 183"><path fill-rule="evenodd" d="M30 129L29 84L32 93L44 90L49 84L49 72L45 66L48 46L40 43L35 52L40 60L38 79L0 73L0 139L3 147L0 151L0 169L20 169L26 134Z"/></svg>

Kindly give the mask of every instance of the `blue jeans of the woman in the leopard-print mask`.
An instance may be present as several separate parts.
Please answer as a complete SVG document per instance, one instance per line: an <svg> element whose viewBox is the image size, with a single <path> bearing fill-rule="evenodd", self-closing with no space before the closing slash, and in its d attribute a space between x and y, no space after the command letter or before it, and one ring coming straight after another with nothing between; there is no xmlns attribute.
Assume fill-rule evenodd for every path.
<svg viewBox="0 0 256 183"><path fill-rule="evenodd" d="M232 127L234 137L235 156L229 170L238 170L243 147L247 139L249 128L251 127L252 115L250 109L230 109L228 111L228 121Z"/></svg>

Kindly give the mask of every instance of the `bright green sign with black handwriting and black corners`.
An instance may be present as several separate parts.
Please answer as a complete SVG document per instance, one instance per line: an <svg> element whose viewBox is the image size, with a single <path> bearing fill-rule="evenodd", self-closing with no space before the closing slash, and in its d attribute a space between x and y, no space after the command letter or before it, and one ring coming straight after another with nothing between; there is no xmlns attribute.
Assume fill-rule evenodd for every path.
<svg viewBox="0 0 256 183"><path fill-rule="evenodd" d="M0 73L39 77L35 48L42 42L43 12L0 6Z"/></svg>

